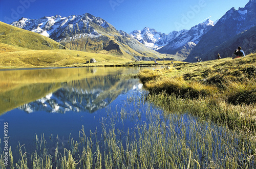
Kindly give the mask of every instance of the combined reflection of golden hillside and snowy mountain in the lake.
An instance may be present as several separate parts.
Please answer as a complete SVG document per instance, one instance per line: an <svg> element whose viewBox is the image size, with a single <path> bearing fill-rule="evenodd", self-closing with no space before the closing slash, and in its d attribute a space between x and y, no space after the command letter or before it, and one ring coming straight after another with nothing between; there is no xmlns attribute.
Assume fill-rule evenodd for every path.
<svg viewBox="0 0 256 169"><path fill-rule="evenodd" d="M140 68L62 68L0 71L0 114L21 107L27 112L94 112L131 89L136 79L121 79Z"/></svg>

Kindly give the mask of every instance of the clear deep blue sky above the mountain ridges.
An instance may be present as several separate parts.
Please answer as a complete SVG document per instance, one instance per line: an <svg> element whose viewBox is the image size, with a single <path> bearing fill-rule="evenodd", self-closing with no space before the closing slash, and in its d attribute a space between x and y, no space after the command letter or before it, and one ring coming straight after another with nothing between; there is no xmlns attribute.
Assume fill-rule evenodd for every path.
<svg viewBox="0 0 256 169"><path fill-rule="evenodd" d="M151 27L170 33L190 29L209 18L220 19L232 7L249 0L0 0L0 21L11 23L22 17L81 15L90 13L130 33Z"/></svg>

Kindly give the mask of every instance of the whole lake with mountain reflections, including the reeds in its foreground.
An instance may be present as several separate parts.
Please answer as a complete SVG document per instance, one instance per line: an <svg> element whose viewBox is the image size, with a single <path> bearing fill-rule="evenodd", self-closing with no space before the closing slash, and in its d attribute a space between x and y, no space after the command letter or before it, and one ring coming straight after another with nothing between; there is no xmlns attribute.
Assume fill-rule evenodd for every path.
<svg viewBox="0 0 256 169"><path fill-rule="evenodd" d="M0 71L0 167L254 167L236 131L148 102L141 69Z"/></svg>

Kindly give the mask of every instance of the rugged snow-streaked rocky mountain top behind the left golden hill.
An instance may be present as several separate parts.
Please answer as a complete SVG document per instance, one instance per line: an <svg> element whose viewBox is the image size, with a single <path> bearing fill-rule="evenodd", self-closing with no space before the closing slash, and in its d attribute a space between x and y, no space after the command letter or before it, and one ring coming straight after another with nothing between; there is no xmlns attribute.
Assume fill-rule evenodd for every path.
<svg viewBox="0 0 256 169"><path fill-rule="evenodd" d="M117 30L115 30L108 22L89 13L68 17L55 15L51 17L45 16L39 19L21 18L18 21L11 23L11 25L50 37L56 41L60 41L67 37L72 38L77 34L90 35L93 33L95 35L97 30L95 30L93 25L98 25L104 29L110 29L111 31L117 32ZM96 35L99 34L100 33L96 33Z"/></svg>

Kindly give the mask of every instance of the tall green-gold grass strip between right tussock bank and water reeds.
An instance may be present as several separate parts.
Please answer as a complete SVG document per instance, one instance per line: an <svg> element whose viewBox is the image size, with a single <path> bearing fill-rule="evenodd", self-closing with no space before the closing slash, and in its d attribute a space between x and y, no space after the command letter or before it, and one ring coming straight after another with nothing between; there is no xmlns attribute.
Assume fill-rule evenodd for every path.
<svg viewBox="0 0 256 169"><path fill-rule="evenodd" d="M147 99L172 114L188 113L203 121L250 133L251 136L256 134L255 104L233 105L218 95L191 99L164 92L151 94Z"/></svg>

